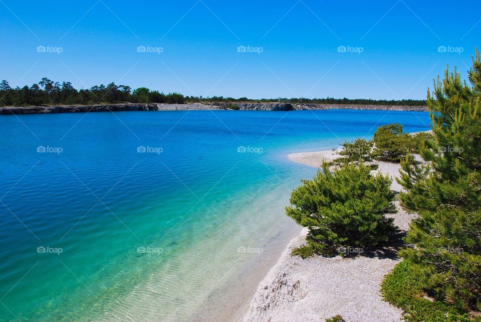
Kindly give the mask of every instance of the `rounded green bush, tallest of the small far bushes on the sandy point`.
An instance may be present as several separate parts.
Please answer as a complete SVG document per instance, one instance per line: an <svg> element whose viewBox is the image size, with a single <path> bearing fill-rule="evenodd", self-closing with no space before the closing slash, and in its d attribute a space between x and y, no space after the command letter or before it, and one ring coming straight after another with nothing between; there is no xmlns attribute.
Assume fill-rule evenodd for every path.
<svg viewBox="0 0 481 322"><path fill-rule="evenodd" d="M399 123L379 126L373 141L374 156L389 162L400 162L409 153L412 145L410 135L403 133Z"/></svg>

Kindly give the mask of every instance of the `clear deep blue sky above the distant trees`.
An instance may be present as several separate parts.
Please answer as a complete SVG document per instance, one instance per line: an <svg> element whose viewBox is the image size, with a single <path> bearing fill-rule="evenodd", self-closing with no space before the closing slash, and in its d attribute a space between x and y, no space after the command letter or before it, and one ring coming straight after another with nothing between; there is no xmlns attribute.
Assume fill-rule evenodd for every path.
<svg viewBox="0 0 481 322"><path fill-rule="evenodd" d="M481 3L0 0L0 79L248 98L425 99L481 49Z"/></svg>

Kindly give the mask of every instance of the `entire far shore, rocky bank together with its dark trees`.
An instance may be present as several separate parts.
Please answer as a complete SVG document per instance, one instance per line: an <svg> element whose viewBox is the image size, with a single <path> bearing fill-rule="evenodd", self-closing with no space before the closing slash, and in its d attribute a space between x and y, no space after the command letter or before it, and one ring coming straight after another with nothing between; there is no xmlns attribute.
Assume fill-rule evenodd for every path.
<svg viewBox="0 0 481 322"><path fill-rule="evenodd" d="M152 110L323 110L370 109L426 111L425 100L373 100L348 98L249 99L222 96L184 96L157 90L110 83L77 90L71 82L54 82L46 77L32 86L12 88L0 82L0 114L71 113L90 111Z"/></svg>

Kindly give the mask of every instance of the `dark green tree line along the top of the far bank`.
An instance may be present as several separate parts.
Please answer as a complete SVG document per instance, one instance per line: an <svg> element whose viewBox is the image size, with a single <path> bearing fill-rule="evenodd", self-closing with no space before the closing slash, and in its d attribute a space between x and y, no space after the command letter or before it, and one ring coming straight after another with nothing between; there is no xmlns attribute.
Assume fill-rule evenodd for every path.
<svg viewBox="0 0 481 322"><path fill-rule="evenodd" d="M72 105L72 104L99 104L99 103L176 103L185 102L215 103L215 102L283 102L304 104L362 104L362 105L408 105L425 106L425 100L372 100L372 99L348 99L348 98L263 98L249 99L247 97L223 97L223 96L184 96L180 93L159 92L146 87L132 89L127 85L116 85L114 82L107 86L100 84L89 89L77 90L71 82L54 82L47 77L32 86L11 87L9 82L0 82L0 105L24 106L24 105Z"/></svg>

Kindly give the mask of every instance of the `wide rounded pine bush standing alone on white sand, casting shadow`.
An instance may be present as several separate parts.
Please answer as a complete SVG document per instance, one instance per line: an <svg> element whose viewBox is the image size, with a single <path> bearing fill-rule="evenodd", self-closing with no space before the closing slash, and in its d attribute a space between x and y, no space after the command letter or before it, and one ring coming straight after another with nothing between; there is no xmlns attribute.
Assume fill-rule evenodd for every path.
<svg viewBox="0 0 481 322"><path fill-rule="evenodd" d="M395 211L391 180L370 174L364 164L345 164L333 173L323 163L312 180L291 194L286 213L298 224L309 227L308 246L295 254L334 255L339 246L358 247L387 241L393 230L386 213Z"/></svg>

